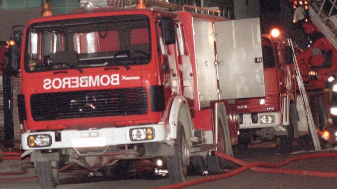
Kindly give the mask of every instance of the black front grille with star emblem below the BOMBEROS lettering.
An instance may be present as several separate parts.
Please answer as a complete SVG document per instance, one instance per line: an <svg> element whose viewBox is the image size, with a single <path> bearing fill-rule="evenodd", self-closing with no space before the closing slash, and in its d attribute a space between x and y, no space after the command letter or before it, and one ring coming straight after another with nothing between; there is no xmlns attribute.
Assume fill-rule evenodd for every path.
<svg viewBox="0 0 337 189"><path fill-rule="evenodd" d="M145 88L33 94L34 121L124 116L148 112Z"/></svg>

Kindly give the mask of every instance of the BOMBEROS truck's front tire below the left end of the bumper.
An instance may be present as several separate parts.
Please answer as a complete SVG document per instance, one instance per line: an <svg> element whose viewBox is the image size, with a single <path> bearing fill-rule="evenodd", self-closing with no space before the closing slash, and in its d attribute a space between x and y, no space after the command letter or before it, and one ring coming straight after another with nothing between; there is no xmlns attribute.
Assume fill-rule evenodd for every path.
<svg viewBox="0 0 337 189"><path fill-rule="evenodd" d="M37 180L42 189L54 189L59 180L59 162L35 162Z"/></svg>

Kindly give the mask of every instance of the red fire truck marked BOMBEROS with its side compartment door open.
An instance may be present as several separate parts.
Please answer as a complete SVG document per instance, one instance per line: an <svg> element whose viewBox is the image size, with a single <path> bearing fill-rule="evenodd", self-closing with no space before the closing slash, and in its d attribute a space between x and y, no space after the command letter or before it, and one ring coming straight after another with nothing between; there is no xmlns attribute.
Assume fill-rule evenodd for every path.
<svg viewBox="0 0 337 189"><path fill-rule="evenodd" d="M27 23L21 144L42 188L56 186L65 163L111 173L125 161L161 158L172 182L204 161L209 172L226 165L211 153L232 154L238 143L237 106L224 99L264 95L259 20L151 5L180 11L137 4Z"/></svg>

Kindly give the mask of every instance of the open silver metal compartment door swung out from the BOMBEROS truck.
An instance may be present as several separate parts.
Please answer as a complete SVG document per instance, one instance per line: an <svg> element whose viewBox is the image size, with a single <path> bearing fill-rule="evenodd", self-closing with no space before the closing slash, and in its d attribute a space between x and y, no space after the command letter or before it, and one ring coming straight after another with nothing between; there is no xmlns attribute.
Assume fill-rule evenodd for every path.
<svg viewBox="0 0 337 189"><path fill-rule="evenodd" d="M264 97L258 18L215 23L221 99Z"/></svg>

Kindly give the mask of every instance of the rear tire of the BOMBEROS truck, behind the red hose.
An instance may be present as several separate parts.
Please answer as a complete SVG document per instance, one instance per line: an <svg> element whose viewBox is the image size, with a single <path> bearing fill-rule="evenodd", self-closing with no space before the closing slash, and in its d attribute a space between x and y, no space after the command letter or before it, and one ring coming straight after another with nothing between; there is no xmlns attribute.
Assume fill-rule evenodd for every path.
<svg viewBox="0 0 337 189"><path fill-rule="evenodd" d="M221 121L218 124L218 152L226 153L226 140L225 140L225 131L222 127ZM206 157L206 167L209 173L223 173L224 169L232 167L234 164L224 158L219 156L207 156Z"/></svg>

